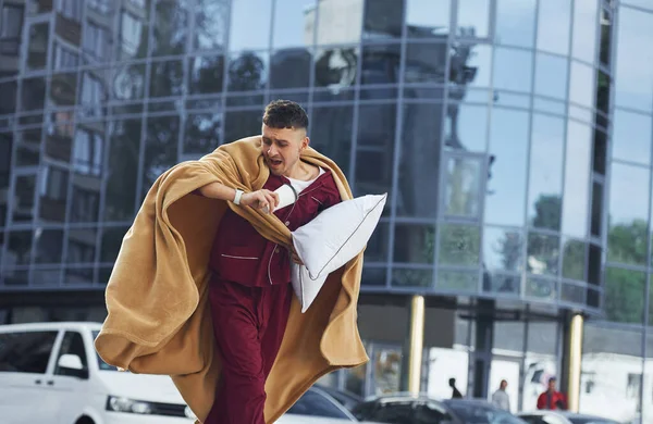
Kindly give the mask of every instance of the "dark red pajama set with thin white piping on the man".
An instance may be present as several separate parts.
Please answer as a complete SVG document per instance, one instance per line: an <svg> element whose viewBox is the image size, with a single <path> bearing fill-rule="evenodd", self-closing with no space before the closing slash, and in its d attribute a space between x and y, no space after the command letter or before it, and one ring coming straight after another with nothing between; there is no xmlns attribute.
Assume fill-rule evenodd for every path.
<svg viewBox="0 0 653 424"><path fill-rule="evenodd" d="M271 175L263 188L273 191L288 183ZM340 201L335 182L326 172L303 190L295 203L274 214L295 230ZM222 374L205 424L264 424L266 379L281 347L294 296L291 254L227 210L210 266L214 278L209 302Z"/></svg>

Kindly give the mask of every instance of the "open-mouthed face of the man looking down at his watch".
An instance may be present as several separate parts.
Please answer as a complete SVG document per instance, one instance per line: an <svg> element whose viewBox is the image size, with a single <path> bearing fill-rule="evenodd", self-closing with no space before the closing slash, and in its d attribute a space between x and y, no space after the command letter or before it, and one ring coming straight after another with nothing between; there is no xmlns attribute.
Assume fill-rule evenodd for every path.
<svg viewBox="0 0 653 424"><path fill-rule="evenodd" d="M308 146L304 128L272 128L263 124L261 150L270 172L287 176L297 162L303 149Z"/></svg>

